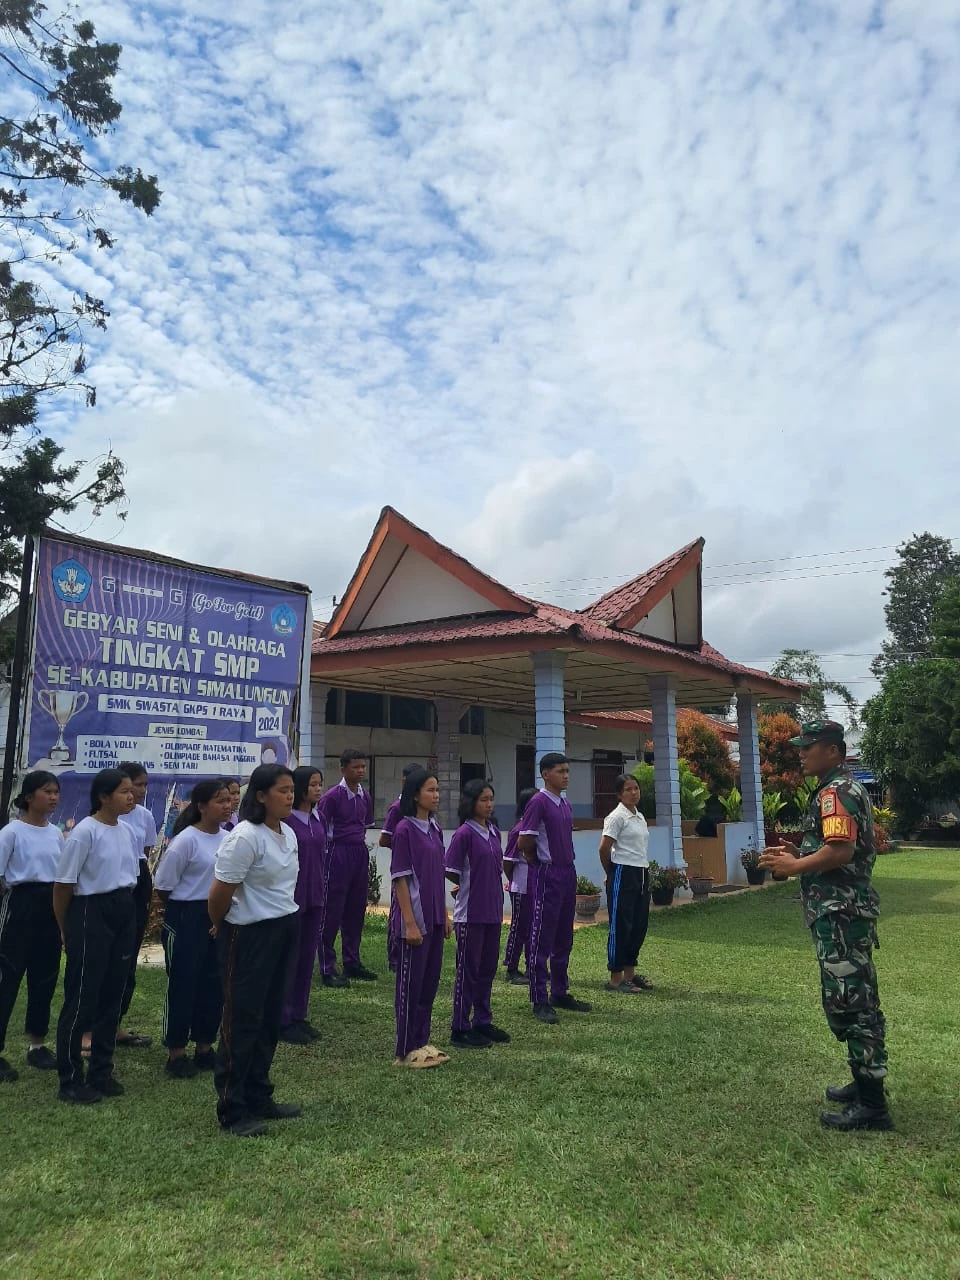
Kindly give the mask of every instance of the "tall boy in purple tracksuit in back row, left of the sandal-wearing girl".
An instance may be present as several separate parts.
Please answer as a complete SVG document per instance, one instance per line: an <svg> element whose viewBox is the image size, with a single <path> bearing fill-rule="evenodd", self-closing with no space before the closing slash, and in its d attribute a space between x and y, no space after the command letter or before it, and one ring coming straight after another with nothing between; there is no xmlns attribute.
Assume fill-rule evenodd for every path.
<svg viewBox="0 0 960 1280"><path fill-rule="evenodd" d="M374 822L374 799L364 790L366 755L348 748L340 755L340 781L316 806L326 824L326 879L320 928L320 972L325 987L348 987L351 978L375 982L376 974L360 963L360 938L366 915L370 854L364 833ZM337 973L337 934L340 934L343 974Z"/></svg>

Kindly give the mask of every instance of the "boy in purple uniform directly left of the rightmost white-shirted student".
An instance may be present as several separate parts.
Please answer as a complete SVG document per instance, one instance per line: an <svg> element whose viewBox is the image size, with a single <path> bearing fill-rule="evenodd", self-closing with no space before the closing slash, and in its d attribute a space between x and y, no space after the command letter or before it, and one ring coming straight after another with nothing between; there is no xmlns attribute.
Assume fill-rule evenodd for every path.
<svg viewBox="0 0 960 1280"><path fill-rule="evenodd" d="M573 810L563 792L570 782L570 764L559 751L540 760L543 791L524 810L517 849L529 863L527 892L531 919L527 942L527 977L534 1018L556 1023L554 1009L588 1014L590 1005L570 995L567 966L573 947L576 868L573 867ZM547 964L550 968L550 998L547 1000Z"/></svg>

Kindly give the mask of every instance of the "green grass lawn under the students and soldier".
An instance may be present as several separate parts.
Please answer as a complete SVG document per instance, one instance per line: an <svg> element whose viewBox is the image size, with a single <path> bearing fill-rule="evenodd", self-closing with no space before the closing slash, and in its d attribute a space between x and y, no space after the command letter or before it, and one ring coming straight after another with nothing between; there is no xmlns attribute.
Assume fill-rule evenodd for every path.
<svg viewBox="0 0 960 1280"><path fill-rule="evenodd" d="M165 1079L159 1047L118 1051L127 1094L91 1108L24 1068L0 1088L0 1276L960 1276L960 851L877 878L893 1133L818 1123L846 1066L777 886L657 913L645 996L600 991L607 931L581 929L593 1014L540 1027L498 979L513 1043L439 1070L392 1068L388 975L317 991L323 1039L274 1069L303 1117L259 1140L221 1135L210 1078ZM384 970L383 920L365 937ZM452 978L449 945L438 1043ZM157 1034L163 986L142 974L129 1025Z"/></svg>

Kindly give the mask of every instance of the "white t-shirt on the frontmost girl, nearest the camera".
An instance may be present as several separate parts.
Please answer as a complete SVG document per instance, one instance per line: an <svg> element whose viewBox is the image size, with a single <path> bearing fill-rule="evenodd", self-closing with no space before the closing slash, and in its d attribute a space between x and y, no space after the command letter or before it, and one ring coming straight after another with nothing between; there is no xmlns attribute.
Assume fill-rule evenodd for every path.
<svg viewBox="0 0 960 1280"><path fill-rule="evenodd" d="M224 884L238 884L227 913L229 924L256 924L293 915L300 858L297 837L285 822L280 833L261 822L242 822L227 833L216 854L214 874Z"/></svg>

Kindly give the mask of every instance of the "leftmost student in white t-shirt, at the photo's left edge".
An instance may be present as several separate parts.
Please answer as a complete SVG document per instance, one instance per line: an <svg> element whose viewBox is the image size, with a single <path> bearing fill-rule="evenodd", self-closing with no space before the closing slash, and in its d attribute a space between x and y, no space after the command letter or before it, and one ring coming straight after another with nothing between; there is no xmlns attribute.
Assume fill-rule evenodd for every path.
<svg viewBox="0 0 960 1280"><path fill-rule="evenodd" d="M50 1029L50 1005L60 977L60 929L54 915L54 876L63 836L50 822L60 803L55 773L28 773L14 805L18 822L0 831L0 1055L13 1006L27 975L24 1032L28 1066L50 1070L56 1059L44 1043ZM17 1071L0 1056L0 1084Z"/></svg>

